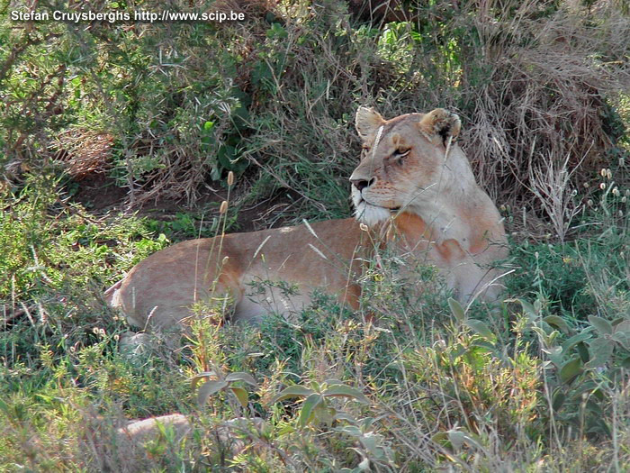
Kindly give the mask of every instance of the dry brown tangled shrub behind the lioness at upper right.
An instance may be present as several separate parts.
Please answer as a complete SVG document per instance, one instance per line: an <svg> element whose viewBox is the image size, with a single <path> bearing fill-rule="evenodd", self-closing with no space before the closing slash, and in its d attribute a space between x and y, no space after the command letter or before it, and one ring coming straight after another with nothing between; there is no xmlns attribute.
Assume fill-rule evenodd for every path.
<svg viewBox="0 0 630 473"><path fill-rule="evenodd" d="M526 2L511 21L477 12L491 75L484 85L471 85L463 137L492 196L536 207L540 183L532 179L541 169L561 172L568 159L572 178L564 190L571 192L610 164L607 151L619 135L610 129L611 105L630 90L630 19L615 2L590 11L564 5L543 19L536 18L539 7Z"/></svg>

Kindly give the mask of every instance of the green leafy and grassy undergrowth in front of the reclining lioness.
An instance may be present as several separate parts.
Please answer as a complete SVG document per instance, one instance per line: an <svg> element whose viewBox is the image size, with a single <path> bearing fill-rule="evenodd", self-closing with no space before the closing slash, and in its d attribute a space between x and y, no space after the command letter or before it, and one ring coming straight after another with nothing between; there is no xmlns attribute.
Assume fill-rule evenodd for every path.
<svg viewBox="0 0 630 473"><path fill-rule="evenodd" d="M98 287L164 241L130 217L86 221L55 189L33 177L3 197L2 260L31 265L4 269L4 469L630 465L626 216L585 214L596 228L578 241L514 243L508 264L519 270L500 308L464 311L431 268L404 273L427 289L410 293L401 261L383 254L358 311L315 294L290 320L202 318L183 346L129 344ZM621 196L595 195L608 206ZM125 419L173 412L191 419L187 441L165 430L135 459L112 450ZM223 423L235 419L226 444Z"/></svg>

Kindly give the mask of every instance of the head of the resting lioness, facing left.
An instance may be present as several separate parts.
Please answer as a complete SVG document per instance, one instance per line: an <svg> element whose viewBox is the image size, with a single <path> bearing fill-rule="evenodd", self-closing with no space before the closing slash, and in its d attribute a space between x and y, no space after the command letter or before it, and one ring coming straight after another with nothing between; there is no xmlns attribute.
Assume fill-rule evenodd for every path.
<svg viewBox="0 0 630 473"><path fill-rule="evenodd" d="M464 153L452 145L460 128L459 117L442 108L384 120L374 109L360 107L356 131L363 153L350 177L356 218L374 225L392 212L413 212L452 186L458 174L470 174L462 169L468 167Z"/></svg>

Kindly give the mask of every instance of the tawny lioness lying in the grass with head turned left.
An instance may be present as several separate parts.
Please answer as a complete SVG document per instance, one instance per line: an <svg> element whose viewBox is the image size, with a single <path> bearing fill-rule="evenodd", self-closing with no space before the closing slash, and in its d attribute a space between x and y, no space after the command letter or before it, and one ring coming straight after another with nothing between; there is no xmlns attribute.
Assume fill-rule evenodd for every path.
<svg viewBox="0 0 630 473"><path fill-rule="evenodd" d="M357 275L388 243L408 260L436 265L460 301L494 299L500 272L491 263L507 256L506 236L454 141L460 128L441 108L384 120L360 107L363 158L350 177L356 218L183 241L139 262L107 299L130 323L160 328L213 299L229 300L240 320L288 315L309 305L316 287L357 307Z"/></svg>

